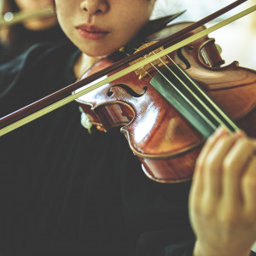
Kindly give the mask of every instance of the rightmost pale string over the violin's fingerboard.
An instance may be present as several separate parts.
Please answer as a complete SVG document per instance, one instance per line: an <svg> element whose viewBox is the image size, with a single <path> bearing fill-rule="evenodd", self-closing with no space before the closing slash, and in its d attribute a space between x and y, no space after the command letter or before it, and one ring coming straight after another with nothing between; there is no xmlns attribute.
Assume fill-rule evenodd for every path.
<svg viewBox="0 0 256 256"><path fill-rule="evenodd" d="M181 73L183 73L183 75L189 79L189 82L191 84L193 84L195 86L195 89L197 89L202 96L204 96L204 99L207 100L207 102L209 102L213 108L215 108L215 110L224 118L224 120L229 123L230 126L232 126L235 131L239 130L239 128L234 124L234 122L222 111L221 108L218 107L218 105L212 101L212 99L207 96L207 93L204 90L201 90L200 86L198 86L198 84L195 83L195 81L193 79L191 79L188 75L188 73L186 73L182 67L179 67L177 65L177 63L175 61L172 60L172 58L169 55L166 55L171 61L172 63L181 71ZM172 71L172 70L171 70ZM192 92L193 94L195 94L194 92ZM196 96L196 94L195 94ZM196 96L197 97L197 96ZM200 100L200 99L199 99ZM201 100L200 100L201 101ZM205 103L203 103L205 105ZM212 111L211 111L212 112Z"/></svg>

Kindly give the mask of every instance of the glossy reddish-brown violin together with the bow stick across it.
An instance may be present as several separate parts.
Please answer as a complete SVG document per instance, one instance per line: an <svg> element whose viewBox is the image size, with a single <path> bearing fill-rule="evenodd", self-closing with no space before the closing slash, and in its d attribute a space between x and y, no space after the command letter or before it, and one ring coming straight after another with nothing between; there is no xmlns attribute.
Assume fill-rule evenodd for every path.
<svg viewBox="0 0 256 256"><path fill-rule="evenodd" d="M221 67L224 61L214 39L207 37L202 26L241 2L195 24L168 26L148 39L159 40L163 33L171 36L144 44L121 61L116 61L116 55L102 59L77 83L3 117L1 126L68 95L64 103L46 108L51 111L77 98L90 123L99 130L121 126L148 177L161 183L191 179L201 147L219 125L230 132L241 128L256 137L256 72L239 67L237 61ZM82 96L84 91L87 93ZM43 114L38 111L35 116ZM7 132L5 128L1 131Z"/></svg>

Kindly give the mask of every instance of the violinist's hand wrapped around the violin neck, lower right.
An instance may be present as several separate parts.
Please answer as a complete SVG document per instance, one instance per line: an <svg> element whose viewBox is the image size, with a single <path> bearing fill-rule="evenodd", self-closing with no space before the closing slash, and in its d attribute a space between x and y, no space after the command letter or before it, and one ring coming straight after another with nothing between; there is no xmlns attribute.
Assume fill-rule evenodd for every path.
<svg viewBox="0 0 256 256"><path fill-rule="evenodd" d="M256 141L223 128L196 162L189 217L195 256L245 256L256 240Z"/></svg>

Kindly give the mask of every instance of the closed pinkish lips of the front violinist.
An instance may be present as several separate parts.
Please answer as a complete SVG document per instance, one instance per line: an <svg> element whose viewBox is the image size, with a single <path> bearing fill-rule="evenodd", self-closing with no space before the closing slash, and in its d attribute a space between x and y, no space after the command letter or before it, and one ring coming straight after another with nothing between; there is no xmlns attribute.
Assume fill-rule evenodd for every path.
<svg viewBox="0 0 256 256"><path fill-rule="evenodd" d="M108 31L98 27L98 26L88 26L86 24L76 26L77 31L79 32L79 35L82 38L88 39L88 40L99 40L108 35Z"/></svg>

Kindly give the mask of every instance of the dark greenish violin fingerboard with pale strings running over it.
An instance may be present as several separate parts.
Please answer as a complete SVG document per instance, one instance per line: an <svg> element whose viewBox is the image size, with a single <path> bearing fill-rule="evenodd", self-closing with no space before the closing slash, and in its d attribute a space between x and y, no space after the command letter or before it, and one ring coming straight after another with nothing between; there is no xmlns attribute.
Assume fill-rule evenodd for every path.
<svg viewBox="0 0 256 256"><path fill-rule="evenodd" d="M220 125L230 132L238 130L236 124L181 67L173 65L160 70L150 84L203 137L210 137Z"/></svg>

